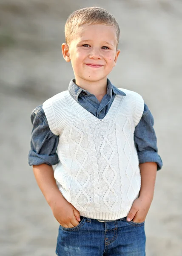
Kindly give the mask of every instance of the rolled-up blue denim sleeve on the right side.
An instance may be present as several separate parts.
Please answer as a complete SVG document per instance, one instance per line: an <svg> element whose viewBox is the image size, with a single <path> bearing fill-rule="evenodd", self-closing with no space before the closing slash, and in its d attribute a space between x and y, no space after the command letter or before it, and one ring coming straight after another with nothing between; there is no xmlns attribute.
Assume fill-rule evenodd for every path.
<svg viewBox="0 0 182 256"><path fill-rule="evenodd" d="M139 163L155 162L157 163L157 170L162 168L162 159L158 154L157 139L154 131L154 117L146 104L144 105L142 118L135 127L134 143Z"/></svg>

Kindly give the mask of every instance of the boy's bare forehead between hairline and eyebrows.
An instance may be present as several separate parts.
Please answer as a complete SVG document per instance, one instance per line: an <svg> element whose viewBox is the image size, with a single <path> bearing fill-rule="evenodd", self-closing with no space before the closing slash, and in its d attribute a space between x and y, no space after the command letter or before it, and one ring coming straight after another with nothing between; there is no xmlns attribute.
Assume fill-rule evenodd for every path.
<svg viewBox="0 0 182 256"><path fill-rule="evenodd" d="M100 40L117 42L116 29L114 26L106 26L102 24L84 24L80 26L75 33L75 40Z"/></svg>

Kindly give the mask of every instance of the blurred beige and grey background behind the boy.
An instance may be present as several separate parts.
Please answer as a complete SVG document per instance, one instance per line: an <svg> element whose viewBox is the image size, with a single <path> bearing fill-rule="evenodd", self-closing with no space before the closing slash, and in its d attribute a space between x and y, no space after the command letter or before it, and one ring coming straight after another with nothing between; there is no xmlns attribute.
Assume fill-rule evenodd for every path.
<svg viewBox="0 0 182 256"><path fill-rule="evenodd" d="M31 111L73 78L61 44L71 12L99 6L121 29L109 76L140 93L164 166L145 229L147 256L182 256L182 1L0 0L0 256L55 255L58 222L28 166Z"/></svg>

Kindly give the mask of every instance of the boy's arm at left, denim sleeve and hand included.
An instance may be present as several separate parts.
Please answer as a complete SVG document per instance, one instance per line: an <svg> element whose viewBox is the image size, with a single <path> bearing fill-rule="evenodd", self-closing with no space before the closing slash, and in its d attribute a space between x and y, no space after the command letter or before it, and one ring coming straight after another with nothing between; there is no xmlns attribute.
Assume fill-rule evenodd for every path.
<svg viewBox="0 0 182 256"><path fill-rule="evenodd" d="M50 131L42 106L34 109L31 114L31 122L33 129L28 163L33 166L37 184L57 221L63 227L77 226L80 221L80 212L63 197L54 179L52 165L59 161L56 154L59 139Z"/></svg>

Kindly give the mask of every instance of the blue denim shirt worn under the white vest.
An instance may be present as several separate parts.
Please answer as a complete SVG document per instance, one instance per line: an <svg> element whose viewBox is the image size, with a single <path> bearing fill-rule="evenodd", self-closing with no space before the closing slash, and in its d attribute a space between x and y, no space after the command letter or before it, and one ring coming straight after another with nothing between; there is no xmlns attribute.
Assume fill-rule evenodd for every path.
<svg viewBox="0 0 182 256"><path fill-rule="evenodd" d="M126 96L124 92L111 84L109 79L107 80L107 94L105 94L101 102L97 100L94 94L77 86L74 79L70 81L68 91L73 99L99 119L105 117L116 94ZM59 136L51 132L42 105L32 111L31 122L33 129L31 132L31 149L28 154L28 164L30 166L43 163L48 165L57 164L59 162L57 156ZM156 134L153 126L154 118L145 104L142 118L135 127L134 143L139 163L155 162L157 163L157 170L159 170L162 168L162 160L158 154Z"/></svg>

